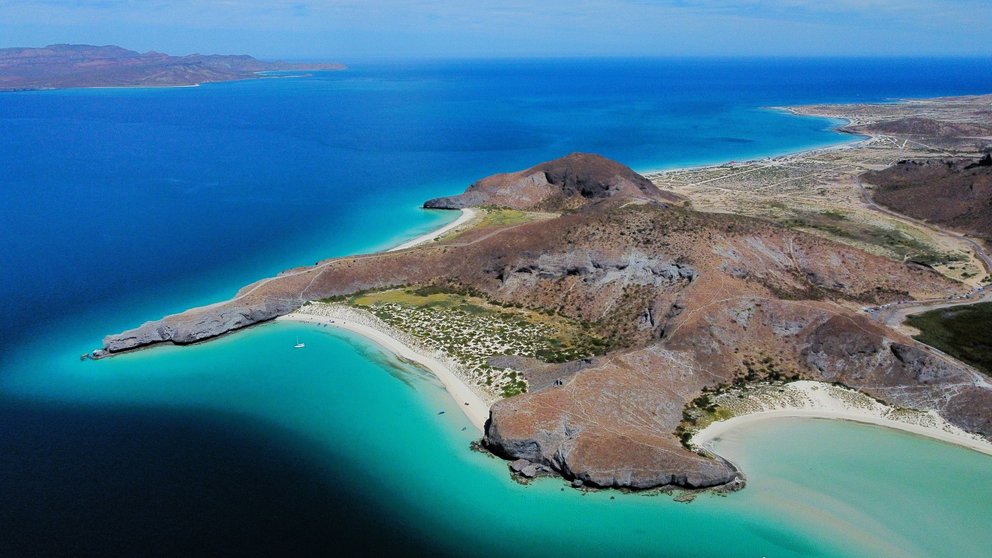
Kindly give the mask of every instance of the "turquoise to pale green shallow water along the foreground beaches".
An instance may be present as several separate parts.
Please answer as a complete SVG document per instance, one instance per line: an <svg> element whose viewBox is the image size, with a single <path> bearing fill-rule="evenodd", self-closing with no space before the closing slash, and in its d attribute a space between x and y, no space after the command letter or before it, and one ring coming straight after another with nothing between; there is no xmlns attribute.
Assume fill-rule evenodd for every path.
<svg viewBox="0 0 992 558"><path fill-rule="evenodd" d="M293 349L298 335L306 349ZM215 410L288 429L323 450L313 459L328 480L350 472L348 488L441 553L992 555L992 458L887 429L799 419L742 427L717 449L741 465L748 488L680 503L582 494L558 479L518 485L505 462L468 449L478 433L433 376L340 331L272 323L193 347L37 364L3 388L40 401Z"/></svg>

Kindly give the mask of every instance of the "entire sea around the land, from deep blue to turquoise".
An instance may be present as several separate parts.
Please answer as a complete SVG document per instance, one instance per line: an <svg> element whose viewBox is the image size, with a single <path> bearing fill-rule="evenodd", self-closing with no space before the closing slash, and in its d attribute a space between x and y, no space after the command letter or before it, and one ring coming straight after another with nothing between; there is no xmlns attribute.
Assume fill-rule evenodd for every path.
<svg viewBox="0 0 992 558"><path fill-rule="evenodd" d="M832 132L838 122L763 107L992 92L989 62L377 62L197 87L0 93L0 556L538 547L562 556L771 558L954 555L939 548L955 536L964 542L946 543L953 552L992 544L992 509L967 502L958 507L984 521L977 534L952 521L927 538L896 517L865 527L877 544L864 533L838 542L850 525L809 531L796 517L820 517L842 496L806 515L783 507L819 501L809 490L828 489L796 489L802 456L783 454L779 465L795 467L779 471L767 456L788 448L767 435L754 435L765 460L752 461L758 480L791 487L776 497L749 488L737 500L685 506L623 495L622 509L606 511L608 494L522 488L467 450L460 423L425 418L448 404L430 377L357 339L320 334L306 357L282 350L286 339L317 335L303 326L78 359L104 335L229 298L283 269L439 226L454 215L419 209L425 200L493 173L573 151L649 171L844 143L854 138ZM366 414L378 406L400 410ZM795 448L815 451L800 443L810 435L803 428L821 426L790 428L783 436ZM903 444L892 453L904 469L886 469L896 458L877 456L879 487L898 487L899 475L919 481L925 465L964 468L992 486L982 477L992 460L977 454L867 427L825 428L832 434L818 435L863 443L849 455L839 444L823 457L837 460L827 471L862 459L857 448L881 437ZM872 490L849 494L836 516L868 513L890 497L883 488L870 501L863 494ZM525 490L541 494L531 506L514 503ZM949 486L919 492L893 504L954 509ZM986 492L958 495L988 501ZM723 534L709 537L714 525ZM627 546L617 537L624 528Z"/></svg>

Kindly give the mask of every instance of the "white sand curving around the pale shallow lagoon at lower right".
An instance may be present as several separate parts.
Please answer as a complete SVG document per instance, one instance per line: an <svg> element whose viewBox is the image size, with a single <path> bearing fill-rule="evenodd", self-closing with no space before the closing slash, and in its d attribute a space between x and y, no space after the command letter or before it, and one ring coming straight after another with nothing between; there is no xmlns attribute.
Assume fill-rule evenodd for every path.
<svg viewBox="0 0 992 558"><path fill-rule="evenodd" d="M809 380L793 382L787 384L787 386L795 390L796 393L793 395L799 394L800 397L806 397L804 406L798 406L795 403L780 402L780 405L785 408L762 409L737 415L726 420L712 422L692 436L691 444L699 448L705 448L715 455L715 452L713 452L713 442L718 440L724 433L739 426L776 418L818 418L847 420L884 426L992 456L992 442L946 423L946 421L933 411L914 411L918 413L916 415L917 418L924 418L930 424L920 424L920 422L924 421L910 422L908 420L895 420L888 418L886 415L891 415L894 411L898 411L898 409L876 401L866 404L870 398L853 390L836 388L827 383ZM831 389L843 389L850 393L857 393L863 397L863 400L851 404L851 401L843 401L835 395L831 396ZM767 401L763 401L762 403L767 404Z"/></svg>

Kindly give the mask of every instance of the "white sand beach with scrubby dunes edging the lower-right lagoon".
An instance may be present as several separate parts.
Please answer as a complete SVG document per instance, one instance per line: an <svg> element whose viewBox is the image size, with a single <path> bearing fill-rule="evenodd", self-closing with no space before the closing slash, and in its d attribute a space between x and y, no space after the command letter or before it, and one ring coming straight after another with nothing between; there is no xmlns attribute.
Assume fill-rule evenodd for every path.
<svg viewBox="0 0 992 558"><path fill-rule="evenodd" d="M744 399L727 397L735 416L716 421L692 437L691 444L711 450L723 433L760 420L800 417L841 419L876 424L927 436L992 455L992 442L948 423L934 411L890 407L857 391L818 381L796 381L756 390ZM720 401L721 404L723 401Z"/></svg>

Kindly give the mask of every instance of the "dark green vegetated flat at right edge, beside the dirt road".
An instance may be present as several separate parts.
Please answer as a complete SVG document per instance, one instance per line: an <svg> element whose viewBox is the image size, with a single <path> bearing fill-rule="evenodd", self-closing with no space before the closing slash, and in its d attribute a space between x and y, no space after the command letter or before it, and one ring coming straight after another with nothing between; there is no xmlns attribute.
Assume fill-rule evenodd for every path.
<svg viewBox="0 0 992 558"><path fill-rule="evenodd" d="M914 314L906 324L920 330L917 341L992 375L992 302Z"/></svg>

